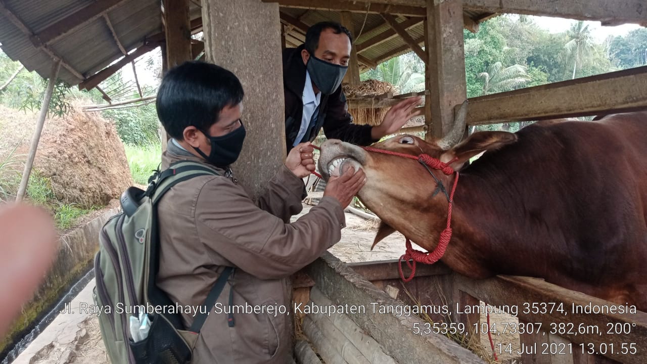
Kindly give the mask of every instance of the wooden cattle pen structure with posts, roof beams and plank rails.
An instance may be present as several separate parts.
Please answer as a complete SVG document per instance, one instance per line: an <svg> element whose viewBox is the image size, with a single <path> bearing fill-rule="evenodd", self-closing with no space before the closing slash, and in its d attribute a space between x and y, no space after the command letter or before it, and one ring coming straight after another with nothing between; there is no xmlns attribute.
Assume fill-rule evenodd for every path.
<svg viewBox="0 0 647 364"><path fill-rule="evenodd" d="M424 125L415 131L425 131L428 140L452 129L454 107L466 99L463 28L476 32L479 23L503 13L601 21L604 25L647 25L644 0L161 3L163 6L159 0L0 0L1 47L29 71L48 78L49 89L58 79L80 89L96 88L108 106L119 102L104 92L102 82L154 49L162 49L165 69L203 59L234 71L245 88L248 110L247 144L237 162L239 177L257 192L286 154L283 99L274 97L272 91L283 87L281 48L302 43L307 27L317 21L340 21L351 32L360 33L351 54L349 84L359 82L360 71L404 52L413 51L424 60ZM201 31L204 41L192 39L192 34ZM401 97L349 99L349 108L385 108ZM43 102L34 134L29 153L32 160L48 101ZM466 122L476 126L646 108L647 66L470 98ZM27 165L22 185L27 185L30 170ZM86 258L91 264L91 255ZM466 307L483 306L481 302L516 313L518 321L505 330L518 334L523 364L647 363L647 313L624 312L630 310L540 279L498 276L472 280L439 263L419 266L413 280L402 282L397 262L344 264L327 254L294 276L292 290L300 310L309 303L364 307L356 313L298 315L305 336L328 364L483 363L445 337L443 328L447 327L462 327L461 334L470 332L468 335L490 332L494 344L499 345L494 345L494 352L513 350L498 342L496 333L503 330L501 326L493 328L491 323L481 322L478 312L466 312ZM434 312L433 322L447 326L433 326L417 315L399 314L402 307L417 305L439 311L446 306L452 312L450 321L447 315ZM384 306L391 311L382 312ZM297 341L295 351L300 353L300 363L321 362L304 341Z"/></svg>

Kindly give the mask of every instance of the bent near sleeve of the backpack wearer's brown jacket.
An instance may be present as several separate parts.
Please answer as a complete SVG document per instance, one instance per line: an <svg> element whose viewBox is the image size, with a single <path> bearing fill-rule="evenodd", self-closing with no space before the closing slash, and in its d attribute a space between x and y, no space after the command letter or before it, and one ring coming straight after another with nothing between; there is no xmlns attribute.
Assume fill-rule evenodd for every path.
<svg viewBox="0 0 647 364"><path fill-rule="evenodd" d="M277 191L272 198L280 197ZM307 266L338 242L345 220L339 202L324 197L308 214L285 223L254 205L241 186L214 178L199 192L195 225L214 262L221 261L219 255L251 275L279 279Z"/></svg>

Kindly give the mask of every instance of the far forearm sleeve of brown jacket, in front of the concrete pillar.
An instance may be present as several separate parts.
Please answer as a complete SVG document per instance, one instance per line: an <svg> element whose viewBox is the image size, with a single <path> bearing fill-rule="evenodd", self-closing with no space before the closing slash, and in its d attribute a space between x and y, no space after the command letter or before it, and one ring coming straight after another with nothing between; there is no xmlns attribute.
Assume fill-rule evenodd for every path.
<svg viewBox="0 0 647 364"><path fill-rule="evenodd" d="M283 165L267 183L267 188L256 201L256 206L290 222L290 218L303 210L301 204L303 181Z"/></svg>

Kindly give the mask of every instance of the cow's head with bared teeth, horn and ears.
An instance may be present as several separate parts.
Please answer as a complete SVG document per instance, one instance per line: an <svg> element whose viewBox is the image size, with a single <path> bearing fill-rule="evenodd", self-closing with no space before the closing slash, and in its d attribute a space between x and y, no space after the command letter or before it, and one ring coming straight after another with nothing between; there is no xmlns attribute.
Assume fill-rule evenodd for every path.
<svg viewBox="0 0 647 364"><path fill-rule="evenodd" d="M442 139L425 142L413 135L398 135L372 147L415 156L427 154L443 163L451 161L454 170L461 170L474 155L516 141L512 133L485 131L459 144L465 131L466 102L455 110L454 128ZM434 194L437 183L428 170L414 159L367 152L336 139L322 144L319 170L324 179L338 176L351 165L366 173L366 185L358 197L382 220L373 247L397 230L431 251L446 224L448 201L443 192ZM432 172L450 192L455 176Z"/></svg>

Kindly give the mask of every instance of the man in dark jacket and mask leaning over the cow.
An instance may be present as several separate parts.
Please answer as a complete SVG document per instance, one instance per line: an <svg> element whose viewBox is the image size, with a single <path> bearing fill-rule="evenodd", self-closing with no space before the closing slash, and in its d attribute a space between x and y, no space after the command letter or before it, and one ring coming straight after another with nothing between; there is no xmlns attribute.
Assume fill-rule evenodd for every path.
<svg viewBox="0 0 647 364"><path fill-rule="evenodd" d="M364 146L395 133L411 117L421 115L413 109L422 98L413 97L389 109L378 126L353 124L342 91L352 42L348 29L324 21L308 29L303 45L283 51L288 152L300 142L313 141L322 127L328 139Z"/></svg>

